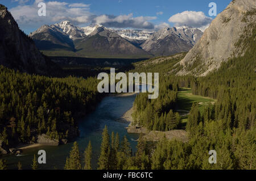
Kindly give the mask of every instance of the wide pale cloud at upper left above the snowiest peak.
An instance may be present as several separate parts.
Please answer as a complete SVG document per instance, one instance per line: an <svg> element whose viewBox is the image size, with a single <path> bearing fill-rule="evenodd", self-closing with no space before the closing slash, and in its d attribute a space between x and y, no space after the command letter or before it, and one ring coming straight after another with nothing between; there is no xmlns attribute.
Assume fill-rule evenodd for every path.
<svg viewBox="0 0 256 181"><path fill-rule="evenodd" d="M38 16L39 2L35 0L32 5L19 5L10 9L14 19L20 27L40 27L42 24L52 24L61 20L70 20L73 24L88 23L92 14L90 5L83 3L67 3L48 1L46 3L46 16Z"/></svg>

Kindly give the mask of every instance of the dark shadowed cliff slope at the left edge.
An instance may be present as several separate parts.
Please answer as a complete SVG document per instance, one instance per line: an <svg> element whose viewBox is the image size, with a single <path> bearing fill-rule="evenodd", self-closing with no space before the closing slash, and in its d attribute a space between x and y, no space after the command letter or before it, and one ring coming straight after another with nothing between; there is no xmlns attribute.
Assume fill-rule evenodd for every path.
<svg viewBox="0 0 256 181"><path fill-rule="evenodd" d="M7 8L0 5L0 64L28 73L48 74L51 61L47 60L35 43L19 30Z"/></svg>

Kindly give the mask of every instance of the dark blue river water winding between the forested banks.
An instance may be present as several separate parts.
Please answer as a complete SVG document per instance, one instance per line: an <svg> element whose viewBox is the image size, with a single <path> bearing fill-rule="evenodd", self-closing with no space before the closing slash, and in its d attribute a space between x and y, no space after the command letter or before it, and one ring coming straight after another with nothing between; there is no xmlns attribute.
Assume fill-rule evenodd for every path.
<svg viewBox="0 0 256 181"><path fill-rule="evenodd" d="M102 129L105 125L108 126L109 134L115 132L119 134L120 138L127 136L130 141L133 151L136 149L138 134L129 134L125 129L129 123L119 121L122 115L133 107L133 102L136 95L130 96L108 96L98 104L96 110L84 119L79 121L80 136L75 141L79 144L81 154L84 153L88 142L92 142L93 155L92 166L93 169L97 168L97 160L100 155L100 145ZM22 169L31 169L32 159L34 154L38 154L39 150L46 151L46 164L39 165L39 169L63 169L65 159L67 158L73 142L67 145L60 146L39 146L30 148L23 151L22 155L6 155L3 157L7 160L8 169L17 169L17 163L22 163ZM82 157L83 159L83 157ZM82 166L84 165L82 160Z"/></svg>

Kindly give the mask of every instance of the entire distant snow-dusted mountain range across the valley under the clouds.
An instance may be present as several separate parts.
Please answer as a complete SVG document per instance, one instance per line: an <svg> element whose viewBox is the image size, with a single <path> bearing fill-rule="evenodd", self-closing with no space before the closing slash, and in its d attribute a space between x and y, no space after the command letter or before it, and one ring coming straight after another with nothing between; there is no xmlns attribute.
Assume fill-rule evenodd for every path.
<svg viewBox="0 0 256 181"><path fill-rule="evenodd" d="M115 30L101 24L80 28L69 21L44 25L30 33L36 46L48 56L94 58L148 58L188 52L202 35L191 27L151 32Z"/></svg>

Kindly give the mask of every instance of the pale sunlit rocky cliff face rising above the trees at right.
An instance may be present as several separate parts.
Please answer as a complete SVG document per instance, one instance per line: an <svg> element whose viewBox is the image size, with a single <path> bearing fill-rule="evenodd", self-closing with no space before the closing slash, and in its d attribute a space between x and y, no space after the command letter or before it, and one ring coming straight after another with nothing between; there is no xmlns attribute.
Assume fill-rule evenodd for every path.
<svg viewBox="0 0 256 181"><path fill-rule="evenodd" d="M183 69L178 75L205 76L220 68L229 57L245 52L239 44L245 33L250 33L250 24L256 22L256 0L232 1L212 21L197 44L181 60Z"/></svg>

